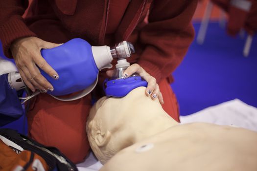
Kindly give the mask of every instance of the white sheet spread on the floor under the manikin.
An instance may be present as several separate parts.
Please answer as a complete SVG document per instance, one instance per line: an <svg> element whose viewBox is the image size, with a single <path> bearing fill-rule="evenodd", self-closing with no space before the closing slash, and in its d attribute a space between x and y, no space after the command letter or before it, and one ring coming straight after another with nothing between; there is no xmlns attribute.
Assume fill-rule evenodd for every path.
<svg viewBox="0 0 257 171"><path fill-rule="evenodd" d="M181 116L180 120L181 124L207 122L217 125L233 125L257 131L257 108L234 99L188 116ZM102 164L97 161L91 152L83 163L76 166L79 171L98 171Z"/></svg>

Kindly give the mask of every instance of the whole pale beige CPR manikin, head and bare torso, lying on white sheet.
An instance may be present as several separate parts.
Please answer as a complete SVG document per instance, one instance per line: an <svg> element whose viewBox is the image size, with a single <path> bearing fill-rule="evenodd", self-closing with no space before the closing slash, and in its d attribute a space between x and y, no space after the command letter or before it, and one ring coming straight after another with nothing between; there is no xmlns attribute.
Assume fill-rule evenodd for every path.
<svg viewBox="0 0 257 171"><path fill-rule="evenodd" d="M87 134L101 171L257 171L257 132L205 123L180 125L145 87L93 106Z"/></svg>

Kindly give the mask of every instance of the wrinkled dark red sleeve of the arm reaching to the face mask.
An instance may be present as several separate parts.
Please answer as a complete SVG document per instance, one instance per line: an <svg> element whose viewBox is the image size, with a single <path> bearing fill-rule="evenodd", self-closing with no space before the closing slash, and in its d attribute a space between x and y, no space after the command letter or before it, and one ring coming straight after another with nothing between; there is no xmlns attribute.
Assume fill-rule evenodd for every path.
<svg viewBox="0 0 257 171"><path fill-rule="evenodd" d="M140 33L145 49L138 64L157 83L171 78L182 62L194 37L191 18L197 0L155 0L149 12L148 24ZM171 80L170 80L171 82Z"/></svg>

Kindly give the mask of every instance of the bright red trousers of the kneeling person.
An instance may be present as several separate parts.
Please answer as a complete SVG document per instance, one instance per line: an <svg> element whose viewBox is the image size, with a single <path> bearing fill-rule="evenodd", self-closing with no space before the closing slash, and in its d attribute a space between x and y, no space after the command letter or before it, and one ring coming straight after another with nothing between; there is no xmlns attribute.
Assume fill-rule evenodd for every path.
<svg viewBox="0 0 257 171"><path fill-rule="evenodd" d="M179 121L178 104L169 83L160 84L164 96L164 110ZM90 149L86 135L86 119L91 107L91 96L62 102L47 94L40 94L31 102L28 133L31 138L46 146L61 150L72 162L82 162Z"/></svg>

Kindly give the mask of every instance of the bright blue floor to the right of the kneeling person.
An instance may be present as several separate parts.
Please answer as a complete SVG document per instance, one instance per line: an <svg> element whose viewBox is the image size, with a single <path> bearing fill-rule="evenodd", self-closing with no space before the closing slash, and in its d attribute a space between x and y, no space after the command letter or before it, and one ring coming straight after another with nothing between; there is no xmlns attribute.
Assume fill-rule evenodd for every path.
<svg viewBox="0 0 257 171"><path fill-rule="evenodd" d="M194 23L197 35L200 24ZM205 43L191 44L171 85L181 115L235 98L257 107L257 36L243 57L245 39L228 36L217 22L209 24Z"/></svg>

